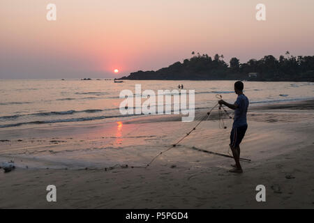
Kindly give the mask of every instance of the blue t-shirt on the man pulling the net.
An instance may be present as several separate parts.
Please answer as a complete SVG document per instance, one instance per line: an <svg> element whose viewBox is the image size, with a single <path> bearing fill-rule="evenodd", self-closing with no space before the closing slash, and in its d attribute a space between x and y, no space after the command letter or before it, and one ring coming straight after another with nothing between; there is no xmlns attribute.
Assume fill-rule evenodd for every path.
<svg viewBox="0 0 314 223"><path fill-rule="evenodd" d="M246 123L246 112L248 112L248 98L246 98L246 95L244 94L238 95L235 103L237 103L239 107L234 110L234 121L232 128L238 128L243 125L248 125L248 123Z"/></svg>

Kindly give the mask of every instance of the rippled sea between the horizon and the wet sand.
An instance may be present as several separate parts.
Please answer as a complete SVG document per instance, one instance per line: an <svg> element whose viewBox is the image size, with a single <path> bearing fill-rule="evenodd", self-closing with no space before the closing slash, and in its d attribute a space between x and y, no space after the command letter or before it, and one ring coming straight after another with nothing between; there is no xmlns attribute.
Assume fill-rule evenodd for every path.
<svg viewBox="0 0 314 223"><path fill-rule="evenodd" d="M119 93L128 89L135 94L135 84L142 91L174 90L179 84L195 90L195 109L213 106L216 94L234 102L234 81L124 81L0 79L0 128L36 128L68 123L114 122L132 118L122 115ZM251 105L289 100L314 99L311 82L244 82L244 93ZM135 95L141 97L141 95ZM146 100L142 98L142 100Z"/></svg>

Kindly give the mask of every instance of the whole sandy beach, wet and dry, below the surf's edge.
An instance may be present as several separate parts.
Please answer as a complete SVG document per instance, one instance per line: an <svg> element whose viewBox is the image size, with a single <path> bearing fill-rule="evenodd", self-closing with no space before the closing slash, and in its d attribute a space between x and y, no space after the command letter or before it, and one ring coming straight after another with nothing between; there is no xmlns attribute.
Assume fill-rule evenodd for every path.
<svg viewBox="0 0 314 223"><path fill-rule="evenodd" d="M252 162L241 162L243 174L228 172L230 158L191 149L230 153L231 121L218 128L215 113L144 168L205 110L193 123L148 116L1 130L0 162L14 160L16 169L0 173L0 208L314 208L313 108L313 100L250 107L241 157ZM57 202L50 203L51 184ZM266 187L266 202L255 200L257 185Z"/></svg>

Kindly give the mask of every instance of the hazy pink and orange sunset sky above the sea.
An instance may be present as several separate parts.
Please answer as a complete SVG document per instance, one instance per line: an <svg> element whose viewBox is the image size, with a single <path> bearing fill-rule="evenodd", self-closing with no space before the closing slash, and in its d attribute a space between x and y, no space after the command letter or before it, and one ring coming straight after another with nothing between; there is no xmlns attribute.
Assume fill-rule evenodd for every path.
<svg viewBox="0 0 314 223"><path fill-rule="evenodd" d="M46 20L48 3L57 21ZM313 10L313 0L1 0L0 78L121 77L192 51L242 63L313 56Z"/></svg>

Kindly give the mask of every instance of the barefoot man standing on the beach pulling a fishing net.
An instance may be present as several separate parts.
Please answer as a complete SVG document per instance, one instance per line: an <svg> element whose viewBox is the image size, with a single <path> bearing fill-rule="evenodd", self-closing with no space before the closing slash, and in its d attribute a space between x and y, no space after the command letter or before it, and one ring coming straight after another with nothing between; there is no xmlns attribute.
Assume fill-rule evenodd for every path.
<svg viewBox="0 0 314 223"><path fill-rule="evenodd" d="M224 100L219 101L219 105L225 105L234 110L234 122L230 133L230 148L232 155L236 162L232 165L234 169L231 169L232 173L242 173L242 167L240 164L240 144L246 134L248 123L246 122L246 112L248 112L248 98L243 93L244 84L242 82L234 83L234 92L238 95L237 101L234 104L229 104Z"/></svg>

